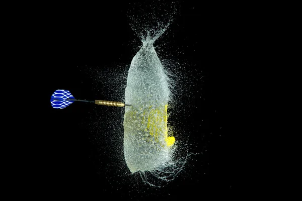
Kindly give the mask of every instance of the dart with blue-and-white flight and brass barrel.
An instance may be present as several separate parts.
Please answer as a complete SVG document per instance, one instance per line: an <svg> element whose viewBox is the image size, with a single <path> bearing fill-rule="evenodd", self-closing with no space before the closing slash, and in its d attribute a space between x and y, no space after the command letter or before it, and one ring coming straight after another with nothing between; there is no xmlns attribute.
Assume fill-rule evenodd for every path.
<svg viewBox="0 0 302 201"><path fill-rule="evenodd" d="M108 100L80 100L75 99L74 96L70 93L70 91L65 89L58 89L53 92L50 98L50 103L52 108L54 109L63 109L69 106L70 104L74 102L86 102L86 103L94 103L97 105L102 106L114 106L114 107L124 107L124 106L131 106L124 104L122 102L114 102L114 101L108 101Z"/></svg>

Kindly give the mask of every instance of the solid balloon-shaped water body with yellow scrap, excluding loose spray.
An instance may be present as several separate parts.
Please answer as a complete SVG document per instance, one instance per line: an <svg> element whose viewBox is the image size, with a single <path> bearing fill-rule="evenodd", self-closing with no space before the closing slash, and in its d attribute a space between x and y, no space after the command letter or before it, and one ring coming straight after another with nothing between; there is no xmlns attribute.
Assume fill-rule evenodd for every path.
<svg viewBox="0 0 302 201"><path fill-rule="evenodd" d="M174 137L168 136L168 77L153 43L164 32L142 40L127 77L124 115L124 156L131 173L165 167Z"/></svg>

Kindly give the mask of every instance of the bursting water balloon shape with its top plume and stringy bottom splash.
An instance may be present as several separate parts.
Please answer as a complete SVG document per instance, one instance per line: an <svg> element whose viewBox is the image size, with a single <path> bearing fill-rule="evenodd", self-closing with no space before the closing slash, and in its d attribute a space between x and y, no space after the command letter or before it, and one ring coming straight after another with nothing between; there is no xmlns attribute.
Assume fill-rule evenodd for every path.
<svg viewBox="0 0 302 201"><path fill-rule="evenodd" d="M132 59L125 90L125 102L133 106L124 115L125 161L131 173L138 172L145 183L158 187L173 180L190 156L181 154L181 142L174 143L173 129L168 129L173 86L154 48L171 21L136 32L142 45Z"/></svg>

